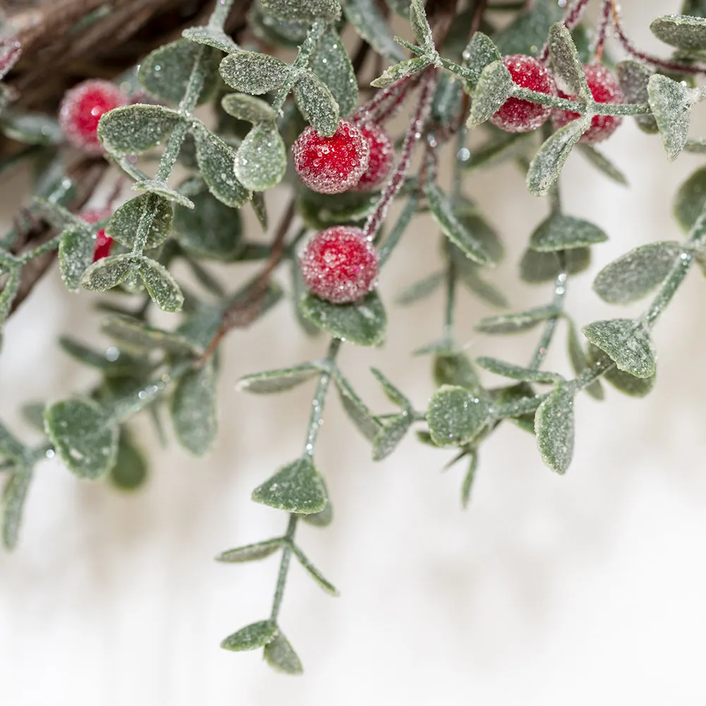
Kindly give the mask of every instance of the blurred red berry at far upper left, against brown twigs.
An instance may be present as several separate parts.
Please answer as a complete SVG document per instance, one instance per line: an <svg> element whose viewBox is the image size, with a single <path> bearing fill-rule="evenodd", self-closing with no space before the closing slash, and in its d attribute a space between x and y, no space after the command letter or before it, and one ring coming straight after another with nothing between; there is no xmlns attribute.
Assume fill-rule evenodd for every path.
<svg viewBox="0 0 706 706"><path fill-rule="evenodd" d="M78 83L64 93L59 122L71 145L90 155L100 155L98 121L102 114L128 104L128 97L116 85L98 78Z"/></svg>

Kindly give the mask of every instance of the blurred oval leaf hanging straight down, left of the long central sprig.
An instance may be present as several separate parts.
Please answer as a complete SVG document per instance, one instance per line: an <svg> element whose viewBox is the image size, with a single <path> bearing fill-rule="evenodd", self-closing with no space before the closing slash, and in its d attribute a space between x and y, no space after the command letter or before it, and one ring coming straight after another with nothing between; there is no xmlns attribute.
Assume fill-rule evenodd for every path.
<svg viewBox="0 0 706 706"><path fill-rule="evenodd" d="M172 400L172 423L174 434L186 450L195 456L210 451L218 433L213 365L179 378Z"/></svg>

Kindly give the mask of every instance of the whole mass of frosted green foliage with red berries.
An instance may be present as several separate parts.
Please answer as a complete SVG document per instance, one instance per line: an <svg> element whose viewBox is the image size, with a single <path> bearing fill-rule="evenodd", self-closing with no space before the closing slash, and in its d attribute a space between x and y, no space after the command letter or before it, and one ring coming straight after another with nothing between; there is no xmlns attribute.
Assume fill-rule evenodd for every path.
<svg viewBox="0 0 706 706"><path fill-rule="evenodd" d="M585 20L592 4L595 26ZM85 8L72 20L76 41L99 36L101 23L126 5ZM114 345L102 352L68 337L60 341L68 354L98 369L101 381L59 402L25 405L39 441L20 441L0 424L2 539L6 549L15 548L25 499L41 482L36 467L46 457L58 455L79 479L140 486L147 463L129 433L138 414L150 415L160 429L168 407L179 443L195 455L208 453L217 436L220 345L234 328L249 326L288 298L307 333L328 337L322 357L283 361L281 369L239 382L241 390L269 394L316 380L301 456L263 478L252 495L286 513L284 531L218 558L239 563L280 555L270 615L236 630L222 647L263 648L273 668L294 674L301 662L280 621L292 557L323 590L336 593L297 542L299 522L325 527L333 520L335 498L328 497L325 473L315 463L333 388L352 425L370 441L373 460L393 453L413 427L420 443L455 450L453 462L467 464L463 505L481 446L503 421L534 434L546 465L564 473L573 456L573 407L580 393L602 400L602 381L638 397L652 390L657 364L651 330L693 263L706 268L706 168L676 194L676 218L686 237L640 246L606 263L594 280L594 291L610 304L652 297L642 316L582 326L566 308L571 280L608 236L564 212L560 175L577 151L606 178L624 184L621 171L595 145L616 139L625 119L662 140L669 160L684 150L706 152L705 140L688 135L690 111L706 98L698 84L706 73L706 2L686 1L682 14L652 20L654 35L671 47L664 57L635 46L614 0L233 5L218 0L205 24L179 28L181 37L138 57L138 66L114 81L75 81L55 97L56 117L49 112L51 97L43 111L23 102L32 95L23 52L35 37L17 17L3 20L0 128L9 146L1 152L0 172L7 179L18 164L42 168L35 170L31 201L0 237L0 327L56 263L69 290L110 294L99 301L101 316L109 311L102 330ZM243 20L236 30L229 25L234 13ZM405 19L407 39L393 35L388 20L394 15ZM352 59L342 33L352 41ZM621 61L606 49L609 37L626 55ZM280 59L280 47L296 47L294 60ZM378 67L369 85L359 85ZM210 108L210 117L195 116L199 104ZM388 121L400 113L407 128L388 132ZM470 131L482 131L480 147L469 148ZM437 183L444 150L454 155L451 193ZM471 361L455 336L460 288L493 306L508 304L491 284L491 268L503 256L501 240L465 193L464 177L501 160L514 160L530 193L547 197L546 219L528 234L520 262L523 280L548 283L547 303L474 324L488 335L538 330L529 361ZM179 184L172 177L177 164L189 171ZM83 208L106 179L112 189L102 208ZM280 182L287 184L289 201L270 224L264 195ZM390 222L397 200L403 205ZM252 208L271 232L268 246L241 232L242 208ZM337 355L343 345L383 344L390 309L377 284L421 211L431 213L443 237L443 269L403 292L400 301L412 305L440 287L445 291L441 337L418 352L432 357L437 389L431 400L413 401L373 369L395 407L376 412L349 383ZM174 279L176 261L189 265L198 291L186 291ZM229 292L209 261L261 264L252 280ZM174 313L174 325L153 325L155 309ZM544 366L562 328L571 379ZM508 383L487 388L477 369Z"/></svg>

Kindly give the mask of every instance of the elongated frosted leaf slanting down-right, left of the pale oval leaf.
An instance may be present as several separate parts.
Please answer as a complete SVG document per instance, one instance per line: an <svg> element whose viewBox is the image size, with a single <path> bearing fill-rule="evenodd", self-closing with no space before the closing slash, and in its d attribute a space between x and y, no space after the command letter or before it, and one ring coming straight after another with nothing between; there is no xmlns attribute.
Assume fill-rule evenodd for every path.
<svg viewBox="0 0 706 706"><path fill-rule="evenodd" d="M198 168L209 191L225 205L239 208L248 201L250 194L235 177L233 148L198 121L194 122L192 131Z"/></svg>

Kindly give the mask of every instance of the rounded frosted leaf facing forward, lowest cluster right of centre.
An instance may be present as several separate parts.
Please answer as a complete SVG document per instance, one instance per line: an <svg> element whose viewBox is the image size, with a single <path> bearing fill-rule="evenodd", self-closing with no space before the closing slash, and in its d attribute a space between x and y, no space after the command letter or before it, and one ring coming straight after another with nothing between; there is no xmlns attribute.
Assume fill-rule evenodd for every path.
<svg viewBox="0 0 706 706"><path fill-rule="evenodd" d="M489 407L485 400L470 390L443 385L429 400L426 421L431 438L437 446L460 446L468 443L488 421Z"/></svg>

